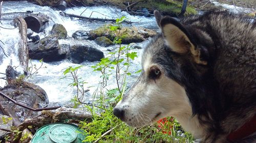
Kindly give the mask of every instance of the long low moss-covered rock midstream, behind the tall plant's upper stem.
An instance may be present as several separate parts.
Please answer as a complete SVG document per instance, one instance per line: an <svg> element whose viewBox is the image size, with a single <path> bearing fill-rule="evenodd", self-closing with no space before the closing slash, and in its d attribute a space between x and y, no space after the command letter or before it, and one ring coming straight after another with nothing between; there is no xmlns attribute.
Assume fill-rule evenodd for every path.
<svg viewBox="0 0 256 143"><path fill-rule="evenodd" d="M89 33L89 39L95 40L97 37L106 37L111 41L114 41L115 37L117 37L116 32L110 30L110 26L113 24L106 24L96 28L95 30ZM122 27L120 29L120 38L122 39L122 44L130 44L136 42L142 42L146 40L146 38L153 37L157 33L153 30L147 30L145 28L137 28L137 27Z"/></svg>

